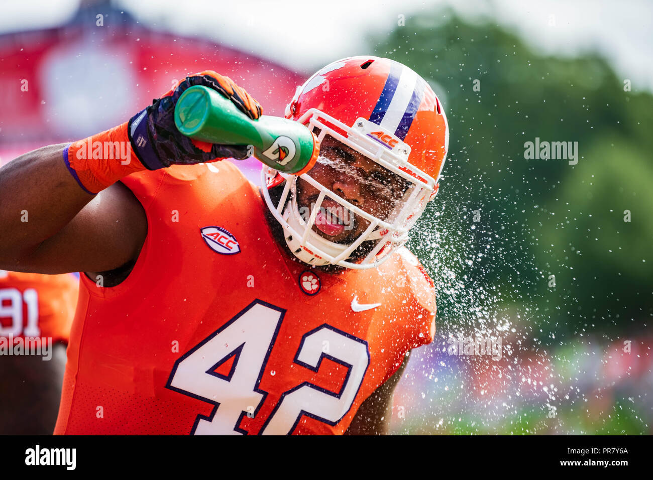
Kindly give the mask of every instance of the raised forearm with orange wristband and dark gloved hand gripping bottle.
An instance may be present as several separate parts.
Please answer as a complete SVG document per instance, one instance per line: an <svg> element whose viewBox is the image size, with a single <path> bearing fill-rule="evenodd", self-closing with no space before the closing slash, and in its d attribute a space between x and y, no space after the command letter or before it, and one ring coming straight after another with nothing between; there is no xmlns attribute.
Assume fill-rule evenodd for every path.
<svg viewBox="0 0 653 480"><path fill-rule="evenodd" d="M22 270L16 265L22 262L25 265L24 261L30 257L39 257L35 252L52 257L48 244L43 242L62 231L96 193L125 176L176 164L247 157L245 145L204 142L196 146L194 140L178 131L174 122L175 102L183 90L196 85L216 89L252 119L261 115L259 103L231 79L212 71L202 72L188 76L121 125L72 142L67 148L61 144L26 153L0 169L0 268L36 271ZM138 219L135 221L138 223ZM93 224L101 225L102 221ZM82 227L82 230L94 238L93 227ZM125 246L124 238L113 240ZM126 243L129 251L138 251L142 246ZM87 253L93 257L92 251ZM43 266L42 259L37 260ZM61 264L57 266L55 270L61 270ZM70 264L65 268L71 268Z"/></svg>

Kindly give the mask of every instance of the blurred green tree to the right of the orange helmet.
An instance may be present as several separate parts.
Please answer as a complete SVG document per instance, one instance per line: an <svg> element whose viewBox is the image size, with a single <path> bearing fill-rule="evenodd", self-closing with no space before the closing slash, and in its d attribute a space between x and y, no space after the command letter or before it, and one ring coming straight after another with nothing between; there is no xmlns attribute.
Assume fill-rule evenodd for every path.
<svg viewBox="0 0 653 480"><path fill-rule="evenodd" d="M440 325L517 306L550 343L650 321L653 96L624 91L597 54L544 56L451 11L406 18L373 44L421 74L449 120L440 193L409 242L436 280ZM578 142L578 163L526 159L536 137Z"/></svg>

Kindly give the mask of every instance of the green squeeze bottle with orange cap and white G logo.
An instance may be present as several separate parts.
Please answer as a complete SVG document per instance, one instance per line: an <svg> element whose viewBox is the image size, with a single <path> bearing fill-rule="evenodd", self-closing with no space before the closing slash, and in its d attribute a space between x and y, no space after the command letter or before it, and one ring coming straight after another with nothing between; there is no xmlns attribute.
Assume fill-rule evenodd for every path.
<svg viewBox="0 0 653 480"><path fill-rule="evenodd" d="M308 172L319 153L317 137L305 125L265 115L251 120L227 97L200 85L182 93L174 108L174 123L183 135L196 140L251 145L254 157L284 173Z"/></svg>

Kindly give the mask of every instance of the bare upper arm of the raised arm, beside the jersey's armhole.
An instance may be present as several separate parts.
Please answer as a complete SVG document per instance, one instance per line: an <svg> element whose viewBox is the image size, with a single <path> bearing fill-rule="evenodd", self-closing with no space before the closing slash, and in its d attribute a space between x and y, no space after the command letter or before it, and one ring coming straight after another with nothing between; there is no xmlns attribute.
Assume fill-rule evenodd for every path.
<svg viewBox="0 0 653 480"><path fill-rule="evenodd" d="M148 231L145 210L117 182L98 193L63 229L24 259L28 269L46 274L104 272L138 257Z"/></svg>

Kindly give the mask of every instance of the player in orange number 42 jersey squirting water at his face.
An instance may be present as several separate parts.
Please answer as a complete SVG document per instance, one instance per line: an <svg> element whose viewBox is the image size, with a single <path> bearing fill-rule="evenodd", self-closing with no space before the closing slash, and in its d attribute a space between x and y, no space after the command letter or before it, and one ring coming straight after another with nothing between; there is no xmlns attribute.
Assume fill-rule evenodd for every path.
<svg viewBox="0 0 653 480"><path fill-rule="evenodd" d="M435 330L433 283L404 243L447 151L436 95L389 59L327 65L286 111L321 156L300 175L263 167L259 188L210 163L247 146L176 130L193 85L261 115L202 72L0 170L0 266L84 272L55 433L385 432L407 355Z"/></svg>

